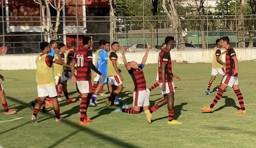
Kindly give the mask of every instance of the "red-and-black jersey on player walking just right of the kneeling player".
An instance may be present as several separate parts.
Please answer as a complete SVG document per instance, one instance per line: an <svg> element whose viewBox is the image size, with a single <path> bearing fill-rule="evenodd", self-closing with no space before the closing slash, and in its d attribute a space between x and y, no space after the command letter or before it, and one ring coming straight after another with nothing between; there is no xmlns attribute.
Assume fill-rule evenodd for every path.
<svg viewBox="0 0 256 148"><path fill-rule="evenodd" d="M172 60L170 51L167 48L164 48L160 51L159 57L158 57L158 78L159 83L163 83L163 77L162 77L162 64L166 64L165 67L165 82L172 82Z"/></svg>

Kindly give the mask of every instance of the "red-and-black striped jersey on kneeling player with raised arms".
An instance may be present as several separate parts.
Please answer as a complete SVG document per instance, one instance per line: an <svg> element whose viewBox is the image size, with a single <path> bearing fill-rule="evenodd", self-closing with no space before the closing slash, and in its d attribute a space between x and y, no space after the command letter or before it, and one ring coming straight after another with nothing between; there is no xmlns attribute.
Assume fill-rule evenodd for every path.
<svg viewBox="0 0 256 148"><path fill-rule="evenodd" d="M138 69L130 69L128 72L132 76L134 83L134 91L146 90L146 79L142 69L144 64L139 64Z"/></svg>

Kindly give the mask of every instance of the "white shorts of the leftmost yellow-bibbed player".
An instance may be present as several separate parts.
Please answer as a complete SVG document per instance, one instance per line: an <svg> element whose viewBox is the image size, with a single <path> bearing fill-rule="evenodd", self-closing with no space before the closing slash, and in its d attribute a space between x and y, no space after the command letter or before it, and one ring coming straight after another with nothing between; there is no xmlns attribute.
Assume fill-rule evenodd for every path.
<svg viewBox="0 0 256 148"><path fill-rule="evenodd" d="M49 96L50 98L57 97L57 91L55 86L40 87L37 86L37 97L44 98Z"/></svg>

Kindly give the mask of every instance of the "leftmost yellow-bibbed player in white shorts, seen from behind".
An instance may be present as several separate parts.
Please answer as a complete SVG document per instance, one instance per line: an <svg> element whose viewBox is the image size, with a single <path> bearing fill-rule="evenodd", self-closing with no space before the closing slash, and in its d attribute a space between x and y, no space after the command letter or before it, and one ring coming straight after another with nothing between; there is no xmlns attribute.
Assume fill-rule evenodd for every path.
<svg viewBox="0 0 256 148"><path fill-rule="evenodd" d="M52 56L47 55L50 52L50 45L47 42L40 44L42 53L36 58L36 82L37 82L37 97L38 101L35 103L33 115L31 120L37 122L37 114L40 111L41 105L45 100L45 97L49 96L53 102L53 109L55 112L56 122L59 122L60 110L59 103L57 100L57 91L55 88L55 80L53 75L53 63L63 64L59 50L55 49L55 53L59 60Z"/></svg>

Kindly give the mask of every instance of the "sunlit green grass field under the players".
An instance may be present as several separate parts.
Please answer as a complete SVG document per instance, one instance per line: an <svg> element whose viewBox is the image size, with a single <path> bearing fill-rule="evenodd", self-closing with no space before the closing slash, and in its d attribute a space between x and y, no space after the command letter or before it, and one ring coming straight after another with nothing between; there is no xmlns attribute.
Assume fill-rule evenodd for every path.
<svg viewBox="0 0 256 148"><path fill-rule="evenodd" d="M256 73L255 62L239 63L239 85L244 95L247 114L237 115L239 106L232 88L224 92L214 113L202 113L200 107L210 105L216 92L206 96L204 90L211 74L210 64L174 64L175 75L182 78L174 82L175 118L182 125L168 125L167 105L152 116L152 124L145 114L114 113L107 109L105 96L98 98L97 107L89 107L90 125L80 126L79 102L60 103L65 121L56 123L53 112L40 113L39 124L31 123L32 109L28 102L36 96L35 71L1 71L7 79L3 83L8 105L17 109L16 115L5 116L0 111L0 145L3 147L255 147L256 145ZM121 67L124 90L119 97L132 104L133 82ZM147 87L155 83L157 65L147 65L144 73ZM212 85L220 82L221 76ZM74 84L69 83L72 97L77 97ZM150 105L162 98L160 89L151 92ZM64 99L64 97L63 97ZM51 111L50 106L47 106ZM5 122L17 117L19 120ZM0 147L1 147L0 146Z"/></svg>

